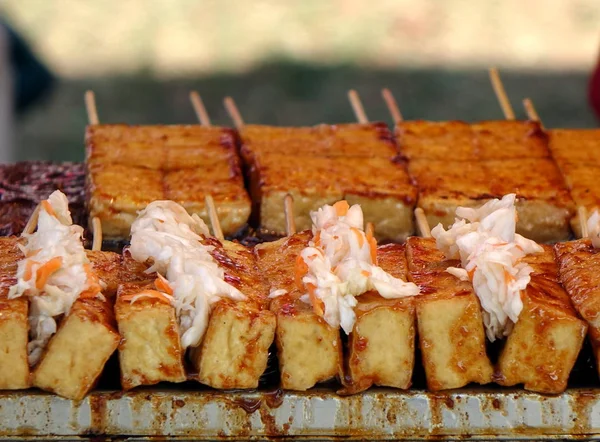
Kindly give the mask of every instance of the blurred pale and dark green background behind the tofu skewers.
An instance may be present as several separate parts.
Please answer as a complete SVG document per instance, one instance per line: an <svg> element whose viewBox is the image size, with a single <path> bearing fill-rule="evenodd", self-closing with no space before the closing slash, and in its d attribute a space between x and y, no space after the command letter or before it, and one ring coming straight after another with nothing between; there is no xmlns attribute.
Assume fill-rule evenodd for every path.
<svg viewBox="0 0 600 442"><path fill-rule="evenodd" d="M487 74L546 126L592 127L587 82L597 0L0 0L0 13L59 77L17 121L19 159L82 160L83 93L102 122L193 123L197 90L215 124L231 95L247 122L353 120L346 92L390 122L502 118Z"/></svg>

